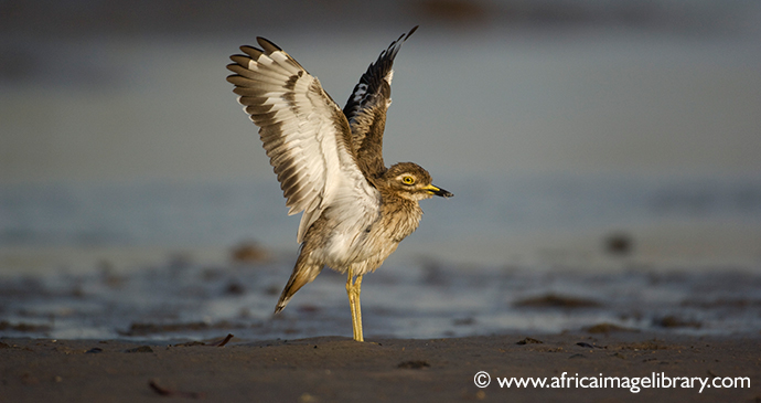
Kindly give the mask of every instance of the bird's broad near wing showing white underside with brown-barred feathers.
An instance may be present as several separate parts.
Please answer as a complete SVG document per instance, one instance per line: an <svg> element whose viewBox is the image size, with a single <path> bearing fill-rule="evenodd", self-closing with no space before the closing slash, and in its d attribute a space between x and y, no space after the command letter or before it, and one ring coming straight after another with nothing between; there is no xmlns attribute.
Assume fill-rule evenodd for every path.
<svg viewBox="0 0 761 403"><path fill-rule="evenodd" d="M367 182L351 147L345 116L320 82L280 47L257 38L261 49L240 46L227 65L238 102L260 127L259 136L290 208L304 212L297 240L333 203L347 216L377 211L377 191Z"/></svg>

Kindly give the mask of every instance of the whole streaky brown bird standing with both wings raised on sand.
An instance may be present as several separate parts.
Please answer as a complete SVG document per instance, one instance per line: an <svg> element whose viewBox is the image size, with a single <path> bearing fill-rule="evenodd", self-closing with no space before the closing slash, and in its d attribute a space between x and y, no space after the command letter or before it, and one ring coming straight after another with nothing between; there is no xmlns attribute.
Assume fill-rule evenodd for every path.
<svg viewBox="0 0 761 403"><path fill-rule="evenodd" d="M293 272L275 308L325 266L347 275L353 338L364 341L362 278L374 272L417 227L419 201L453 194L431 183L412 162L386 168L383 135L392 104L394 59L417 30L384 50L354 86L343 109L320 81L275 43L240 46L227 82L259 127L259 137L286 198L289 215L302 212Z"/></svg>

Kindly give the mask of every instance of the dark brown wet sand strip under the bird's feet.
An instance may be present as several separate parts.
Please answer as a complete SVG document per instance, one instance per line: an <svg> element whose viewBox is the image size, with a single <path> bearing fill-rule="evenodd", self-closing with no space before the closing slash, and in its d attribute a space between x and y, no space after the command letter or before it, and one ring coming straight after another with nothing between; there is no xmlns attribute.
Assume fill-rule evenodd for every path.
<svg viewBox="0 0 761 403"><path fill-rule="evenodd" d="M0 339L2 402L761 400L761 338L621 331L201 342ZM617 331L618 330L618 331ZM479 389L474 375L491 374ZM500 388L497 377L750 379L750 388ZM578 375L577 375L578 374ZM590 380L586 381L589 384ZM661 382L661 381L657 381ZM679 381L682 382L682 381ZM729 384L730 381L724 381ZM717 382L720 384L721 380ZM644 383L643 383L644 385Z"/></svg>

